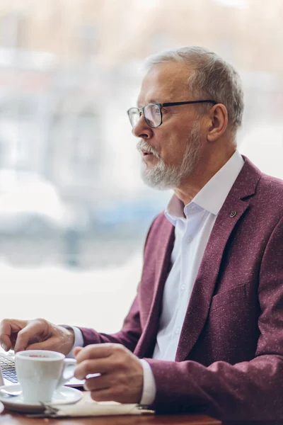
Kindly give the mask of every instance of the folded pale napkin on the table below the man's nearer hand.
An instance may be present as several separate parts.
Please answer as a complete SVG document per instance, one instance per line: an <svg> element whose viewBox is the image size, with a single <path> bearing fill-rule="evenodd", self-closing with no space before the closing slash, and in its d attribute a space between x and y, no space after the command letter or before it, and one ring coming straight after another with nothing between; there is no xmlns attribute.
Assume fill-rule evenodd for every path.
<svg viewBox="0 0 283 425"><path fill-rule="evenodd" d="M95 402L91 393L86 392L75 404L45 404L44 414L27 416L64 417L64 416L112 416L125 414L154 414L153 410L139 404L120 404L117 402Z"/></svg>

